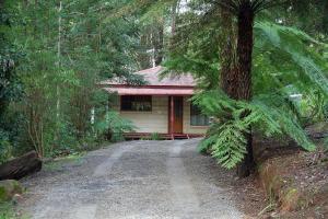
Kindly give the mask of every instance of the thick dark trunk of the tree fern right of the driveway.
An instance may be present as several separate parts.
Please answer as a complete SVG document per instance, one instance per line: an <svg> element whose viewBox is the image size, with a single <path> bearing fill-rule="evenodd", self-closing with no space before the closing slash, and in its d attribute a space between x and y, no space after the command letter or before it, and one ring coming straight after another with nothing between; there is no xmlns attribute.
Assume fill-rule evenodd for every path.
<svg viewBox="0 0 328 219"><path fill-rule="evenodd" d="M250 1L241 4L237 25L238 25L238 41L237 41L237 58L238 58L238 100L251 100L251 55L253 55L253 25L254 11ZM249 132L245 134L247 139L247 154L242 163L237 166L237 174L239 177L246 177L250 174L254 165L253 143L251 143L251 127Z"/></svg>

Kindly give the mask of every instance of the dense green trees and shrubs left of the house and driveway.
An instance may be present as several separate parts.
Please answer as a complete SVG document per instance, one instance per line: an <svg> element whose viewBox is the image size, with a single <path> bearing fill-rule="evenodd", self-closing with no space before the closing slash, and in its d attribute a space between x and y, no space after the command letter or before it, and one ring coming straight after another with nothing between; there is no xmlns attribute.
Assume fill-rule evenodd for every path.
<svg viewBox="0 0 328 219"><path fill-rule="evenodd" d="M101 123L112 99L97 83L143 82L130 73L140 49L136 16L106 19L124 2L60 2L1 3L1 161L10 151L56 157L93 148L105 140ZM118 115L109 119L105 128L128 129Z"/></svg>

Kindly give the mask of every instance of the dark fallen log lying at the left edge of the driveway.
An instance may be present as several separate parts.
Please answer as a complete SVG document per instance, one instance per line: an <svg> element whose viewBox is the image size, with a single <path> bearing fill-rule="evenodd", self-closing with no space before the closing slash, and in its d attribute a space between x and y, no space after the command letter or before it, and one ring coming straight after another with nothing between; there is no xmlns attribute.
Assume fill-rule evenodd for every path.
<svg viewBox="0 0 328 219"><path fill-rule="evenodd" d="M42 170L42 160L35 151L0 165L0 181L20 180Z"/></svg>

